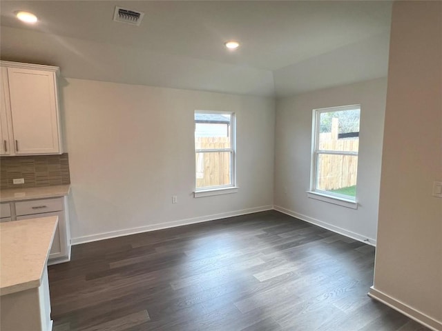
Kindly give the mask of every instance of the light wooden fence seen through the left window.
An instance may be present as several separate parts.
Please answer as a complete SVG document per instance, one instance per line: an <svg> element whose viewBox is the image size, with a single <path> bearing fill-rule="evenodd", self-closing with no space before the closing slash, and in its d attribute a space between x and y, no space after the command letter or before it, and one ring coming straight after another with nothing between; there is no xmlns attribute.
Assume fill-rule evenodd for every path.
<svg viewBox="0 0 442 331"><path fill-rule="evenodd" d="M230 148L229 137L197 137L195 148ZM196 187L228 185L231 182L230 152L196 153Z"/></svg>

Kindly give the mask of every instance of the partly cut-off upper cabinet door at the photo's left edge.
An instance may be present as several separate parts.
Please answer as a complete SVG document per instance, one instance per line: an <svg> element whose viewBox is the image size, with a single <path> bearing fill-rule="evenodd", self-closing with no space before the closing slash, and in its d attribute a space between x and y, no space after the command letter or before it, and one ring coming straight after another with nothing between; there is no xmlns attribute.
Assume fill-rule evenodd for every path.
<svg viewBox="0 0 442 331"><path fill-rule="evenodd" d="M0 76L0 155L11 154L12 130L10 130L10 103L8 90L8 72L6 68L1 67Z"/></svg>

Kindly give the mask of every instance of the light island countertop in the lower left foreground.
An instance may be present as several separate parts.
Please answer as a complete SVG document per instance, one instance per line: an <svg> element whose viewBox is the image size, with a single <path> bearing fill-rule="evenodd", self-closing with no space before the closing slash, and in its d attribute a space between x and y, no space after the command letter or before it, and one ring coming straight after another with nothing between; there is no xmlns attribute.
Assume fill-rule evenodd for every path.
<svg viewBox="0 0 442 331"><path fill-rule="evenodd" d="M58 217L0 223L0 295L41 284Z"/></svg>

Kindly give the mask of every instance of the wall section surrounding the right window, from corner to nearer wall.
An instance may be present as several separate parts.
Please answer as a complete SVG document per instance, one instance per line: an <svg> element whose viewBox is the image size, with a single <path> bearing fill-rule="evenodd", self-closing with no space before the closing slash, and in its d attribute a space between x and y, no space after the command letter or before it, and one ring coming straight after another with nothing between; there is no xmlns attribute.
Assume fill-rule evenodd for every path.
<svg viewBox="0 0 442 331"><path fill-rule="evenodd" d="M276 209L356 239L376 242L387 79L279 99L276 106ZM312 110L361 104L358 209L307 198Z"/></svg>

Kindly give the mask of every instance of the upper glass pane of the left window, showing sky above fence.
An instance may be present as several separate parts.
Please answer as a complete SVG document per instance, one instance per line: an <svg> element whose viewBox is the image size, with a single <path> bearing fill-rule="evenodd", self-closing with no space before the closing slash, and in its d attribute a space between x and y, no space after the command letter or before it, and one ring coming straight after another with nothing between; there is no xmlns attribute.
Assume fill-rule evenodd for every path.
<svg viewBox="0 0 442 331"><path fill-rule="evenodd" d="M195 149L231 148L231 114L195 113Z"/></svg>

